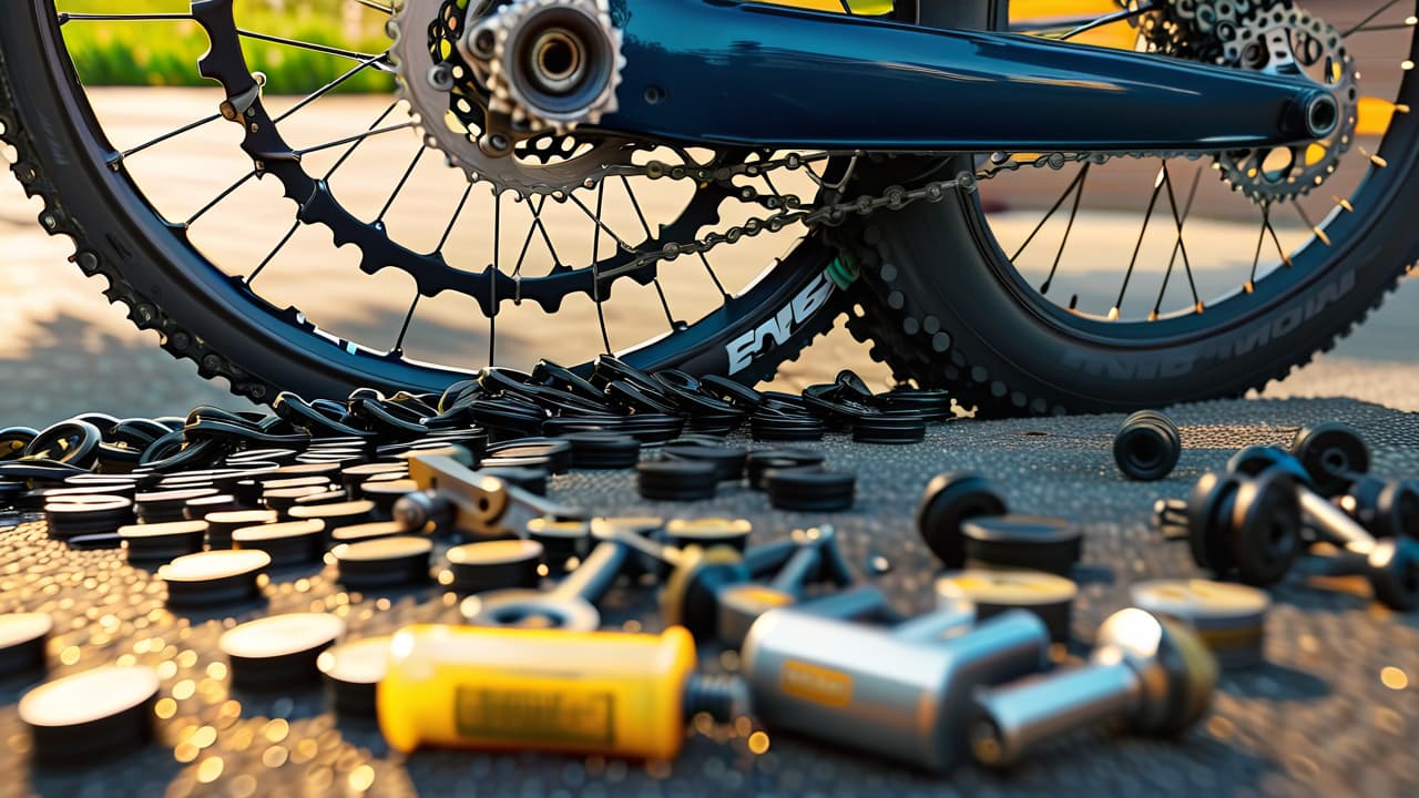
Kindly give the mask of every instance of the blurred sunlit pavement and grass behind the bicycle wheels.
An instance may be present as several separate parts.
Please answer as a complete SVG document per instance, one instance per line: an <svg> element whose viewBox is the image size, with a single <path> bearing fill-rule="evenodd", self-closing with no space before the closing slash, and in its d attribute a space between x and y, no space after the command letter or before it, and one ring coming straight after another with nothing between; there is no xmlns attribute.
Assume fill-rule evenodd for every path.
<svg viewBox="0 0 1419 798"><path fill-rule="evenodd" d="M834 9L839 0L792 0L789 4ZM873 13L880 10L881 0L854 0L853 6L860 13ZM1345 3L1334 0L1305 6L1323 16L1345 13ZM68 11L112 11L114 3L65 0L60 7ZM350 0L240 0L237 7L238 24L247 30L365 53L387 47L383 30L387 14ZM1111 0L1012 3L1015 14L1022 17L1087 14L1112 7ZM186 3L125 0L122 4L123 13L175 10L184 11ZM1094 43L1117 47L1128 47L1131 38L1125 26L1094 34ZM105 133L119 148L145 142L210 114L220 101L220 92L193 68L207 50L207 38L189 21L71 24L65 28L65 40ZM245 38L243 45L253 68L267 74L267 102L277 112L349 68L348 61L312 50L254 38ZM1361 54L1361 58L1388 55L1379 47ZM292 118L289 129L282 125L282 133L295 143L326 141L349 129L363 129L390 104L392 92L393 81L387 74L365 70L342 82L331 97L322 98L318 114L302 112L299 118ZM165 143L160 155L135 158L129 168L155 207L170 219L184 219L192 209L200 207L207 197L250 169L250 160L243 162L244 156L236 148L236 133L230 125L209 125ZM413 133L409 132L409 136ZM370 146L360 153L363 162L346 168L350 176L338 192L342 202L366 209L365 217L373 216L369 209L377 209L385 202L392 179L407 162L410 142L417 145L417 139L407 136L370 139ZM13 158L13 153L6 153L6 158ZM427 240L430 234L437 234L443 220L431 220L443 212L433 210L440 206L430 197L440 192L447 196L460 185L458 176L436 160L427 159L416 172L416 179L431 187L409 202L402 197L389 212L390 229L410 240ZM1131 236L1137 236L1132 231L1135 222L1128 220L1124 212L1137 212L1147 202L1156 166L1142 163L1120 166L1103 190L1090 196L1083 213L1093 222L1090 230L1100 241L1121 239L1131 243ZM1029 233L1040 209L1049 207L1067 179L1067 175L1040 175L990 186L983 196L992 203L992 223L998 224L1002 243ZM1349 177L1340 180L1344 179ZM785 190L790 189L793 186ZM231 202L245 210L211 214L203 226L194 227L194 243L221 268L248 274L251 264L270 250L264 237L280 237L289 224L291 206L280 202L278 195L270 185L253 182L243 186ZM1230 226L1240 226L1236 217L1247 210L1244 203L1227 204L1235 202L1236 197L1225 186L1210 179L1199 193L1199 207L1203 209L1199 216L1206 216L1202 222L1208 224L1196 244L1199 260L1216 250L1210 253L1215 263L1199 267L1205 288L1212 281L1235 285L1236 250L1243 250L1240 260L1250 263L1247 247L1227 244L1227 236L1243 234ZM683 203L684 196L675 195L673 187L646 200L653 220L657 214L673 217ZM0 314L0 426L44 426L85 410L170 415L197 403L241 406L241 400L230 396L223 385L199 379L192 364L172 361L158 348L155 334L133 329L122 307L108 305L101 281L85 280L77 267L67 263L71 244L40 231L34 222L37 213L37 202L26 199L14 180L0 179L0 297L6 298L6 312ZM563 223L569 224L565 219ZM1277 227L1283 237L1308 236L1305 226L1294 219L1281 220ZM1171 239L1162 233L1147 241L1149 251L1165 253L1171 246ZM792 246L797 234L802 231L765 236L718 256L717 275L731 291L748 284ZM1254 236L1250 231L1244 234ZM454 243L458 251L480 253L487 248L487 233L468 230L464 239L455 236ZM1081 308L1103 312L1110 301L1104 297L1117 290L1120 266L1103 263L1105 258L1098 256L1100 248L1093 241L1078 250L1071 256L1077 263L1066 264L1070 278L1063 293L1083 302ZM470 254L465 267L485 267L487 261L478 257L484 256ZM263 273L260 293L278 307L298 305L322 328L349 339L387 341L390 329L399 327L407 311L412 281L402 273L390 274L396 270L346 278L355 263L358 257L352 253L331 251L328 231L307 234L302 230ZM529 267L545 268L549 264L548 260ZM1022 264L1022 273L1026 268L1027 264ZM1419 332L1419 314L1415 312L1419 288L1415 283L1406 281L1399 295L1392 297L1384 311L1334 354L1273 385L1267 393L1348 395L1419 410L1419 396L1413 390L1419 385L1419 356L1413 346ZM321 288L312 291L315 285ZM698 318L712 310L708 300L717 298L710 297L702 274L667 278L664 290L670 302L675 304L678 318ZM616 331L614 346L631 345L664 328L664 319L656 315L658 310L646 311L648 288L620 291L617 287L617 291L622 295L607 305L610 327ZM1151 300L1147 298L1148 302ZM1105 304L1090 307L1098 302ZM406 348L420 359L477 368L488 358L487 334L481 325L485 321L467 297L420 302L420 315L409 331ZM499 321L498 359L508 365L525 365L543 355L566 362L589 358L600 349L595 329L595 305L585 297L569 298L555 317L534 312L532 308L512 308ZM841 329L789 364L779 382L783 388L802 388L830 379L840 368L858 369L874 385L885 386L888 382L885 369L871 362L866 346Z"/></svg>

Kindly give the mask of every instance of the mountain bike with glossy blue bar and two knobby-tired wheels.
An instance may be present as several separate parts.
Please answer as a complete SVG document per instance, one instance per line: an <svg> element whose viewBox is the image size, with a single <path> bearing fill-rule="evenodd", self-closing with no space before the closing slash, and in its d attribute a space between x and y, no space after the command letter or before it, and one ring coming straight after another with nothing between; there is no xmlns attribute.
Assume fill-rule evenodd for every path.
<svg viewBox="0 0 1419 798"><path fill-rule="evenodd" d="M21 0L0 28L0 139L40 223L258 402L441 390L481 364L426 361L475 341L497 364L525 324L568 324L568 362L753 383L846 318L982 415L1125 410L1284 376L1419 257L1398 0L350 3L383 48L254 30L247 0ZM111 141L104 118L149 95L85 89L68 40L122 26L204 34L201 114ZM284 95L258 43L345 67ZM390 94L353 122L336 92L368 74ZM219 133L233 182L165 209L162 153ZM263 294L280 268L294 298ZM305 307L345 274L403 291L387 338Z"/></svg>

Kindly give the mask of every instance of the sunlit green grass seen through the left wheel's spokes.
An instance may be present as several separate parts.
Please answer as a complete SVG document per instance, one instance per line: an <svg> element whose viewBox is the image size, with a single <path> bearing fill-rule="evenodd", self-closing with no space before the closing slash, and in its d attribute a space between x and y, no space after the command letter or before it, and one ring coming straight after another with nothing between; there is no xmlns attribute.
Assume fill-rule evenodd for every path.
<svg viewBox="0 0 1419 798"><path fill-rule="evenodd" d="M350 0L236 0L237 27L356 53L383 53L389 40L385 14L358 9ZM58 0L70 13L187 13L175 0ZM206 31L193 21L79 21L64 26L64 40L85 85L210 87L197 74L197 60L209 48ZM308 94L356 65L355 61L284 44L243 37L253 71L265 72L270 94ZM345 81L336 91L389 92L393 78L372 68Z"/></svg>

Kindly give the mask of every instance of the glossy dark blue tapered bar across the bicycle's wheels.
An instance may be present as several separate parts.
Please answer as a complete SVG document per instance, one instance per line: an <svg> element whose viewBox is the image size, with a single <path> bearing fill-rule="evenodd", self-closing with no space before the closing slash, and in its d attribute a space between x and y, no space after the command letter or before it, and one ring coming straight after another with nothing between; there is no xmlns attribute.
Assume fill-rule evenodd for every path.
<svg viewBox="0 0 1419 798"><path fill-rule="evenodd" d="M1327 135L1315 84L1017 34L722 0L619 0L602 126L683 142L955 152L1219 151Z"/></svg>

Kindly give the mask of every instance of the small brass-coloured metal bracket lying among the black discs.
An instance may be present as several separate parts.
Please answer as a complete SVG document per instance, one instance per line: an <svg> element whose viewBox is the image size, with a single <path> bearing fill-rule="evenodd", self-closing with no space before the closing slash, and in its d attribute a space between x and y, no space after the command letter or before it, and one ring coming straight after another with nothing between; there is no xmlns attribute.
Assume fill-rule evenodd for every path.
<svg viewBox="0 0 1419 798"><path fill-rule="evenodd" d="M524 537L528 521L534 518L578 515L555 501L528 493L505 480L482 476L441 454L410 457L409 479L426 493L419 503L402 510L417 511L426 517L451 515L447 520L474 538ZM434 510L436 505L438 510Z"/></svg>

